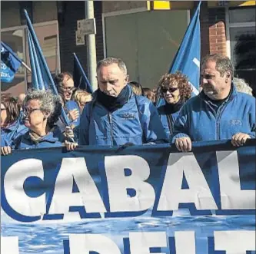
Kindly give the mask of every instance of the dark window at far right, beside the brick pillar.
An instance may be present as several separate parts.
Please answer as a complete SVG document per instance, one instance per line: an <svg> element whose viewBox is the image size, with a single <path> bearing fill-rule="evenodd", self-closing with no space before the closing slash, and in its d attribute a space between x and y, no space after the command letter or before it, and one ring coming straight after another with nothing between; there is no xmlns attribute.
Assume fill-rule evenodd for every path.
<svg viewBox="0 0 256 254"><path fill-rule="evenodd" d="M229 9L228 16L234 74L256 91L255 7Z"/></svg>

